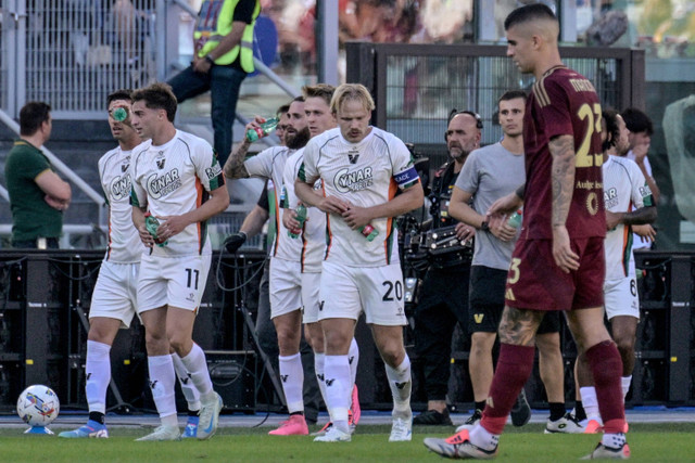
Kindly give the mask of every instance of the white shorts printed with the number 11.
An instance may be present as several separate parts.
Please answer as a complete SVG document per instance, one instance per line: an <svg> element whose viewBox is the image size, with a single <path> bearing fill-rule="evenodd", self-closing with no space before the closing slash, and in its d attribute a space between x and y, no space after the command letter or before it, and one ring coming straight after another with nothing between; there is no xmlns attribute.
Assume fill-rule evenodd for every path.
<svg viewBox="0 0 695 463"><path fill-rule="evenodd" d="M138 313L162 306L198 310L207 284L211 255L154 257L142 255Z"/></svg>

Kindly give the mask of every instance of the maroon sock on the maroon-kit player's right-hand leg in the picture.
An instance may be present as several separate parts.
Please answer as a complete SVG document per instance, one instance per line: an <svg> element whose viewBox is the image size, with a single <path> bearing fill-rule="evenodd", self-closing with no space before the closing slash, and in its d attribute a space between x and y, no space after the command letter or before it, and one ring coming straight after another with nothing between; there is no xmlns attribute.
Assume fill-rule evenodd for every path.
<svg viewBox="0 0 695 463"><path fill-rule="evenodd" d="M594 376L598 410L606 434L622 433L626 409L622 402L622 360L612 340L604 340L586 350L586 360Z"/></svg>

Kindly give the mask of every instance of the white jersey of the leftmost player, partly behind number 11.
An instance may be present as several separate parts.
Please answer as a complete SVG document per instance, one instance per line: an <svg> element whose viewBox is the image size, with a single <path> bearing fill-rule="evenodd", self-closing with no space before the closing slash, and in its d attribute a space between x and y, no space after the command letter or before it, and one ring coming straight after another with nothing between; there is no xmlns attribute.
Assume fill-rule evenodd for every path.
<svg viewBox="0 0 695 463"><path fill-rule="evenodd" d="M121 146L109 151L99 159L99 178L109 205L109 245L104 260L135 263L146 249L138 230L132 224L130 206L130 155Z"/></svg>

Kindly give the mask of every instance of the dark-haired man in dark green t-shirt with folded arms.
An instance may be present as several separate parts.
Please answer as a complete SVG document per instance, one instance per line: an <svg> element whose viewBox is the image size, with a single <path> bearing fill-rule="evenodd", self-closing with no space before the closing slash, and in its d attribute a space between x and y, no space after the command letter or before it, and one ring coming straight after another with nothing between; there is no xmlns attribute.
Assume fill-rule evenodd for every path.
<svg viewBox="0 0 695 463"><path fill-rule="evenodd" d="M72 190L40 147L51 136L51 106L29 102L20 111L20 140L8 154L4 178L12 210L12 247L58 248Z"/></svg>

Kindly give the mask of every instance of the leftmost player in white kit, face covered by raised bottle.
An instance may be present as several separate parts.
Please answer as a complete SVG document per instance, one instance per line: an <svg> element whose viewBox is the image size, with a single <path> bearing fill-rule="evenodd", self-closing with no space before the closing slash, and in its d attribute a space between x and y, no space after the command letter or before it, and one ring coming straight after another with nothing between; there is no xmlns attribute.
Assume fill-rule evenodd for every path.
<svg viewBox="0 0 695 463"><path fill-rule="evenodd" d="M128 121L113 118L114 110L130 112L130 90L117 90L106 98L109 127L118 146L99 159L99 178L109 205L109 247L99 270L99 278L89 309L87 335L87 382L85 393L89 404L87 424L66 430L59 437L109 437L104 424L106 388L111 382L111 346L121 327L129 327L136 312L136 284L140 254L144 249L130 219L130 153L140 137Z"/></svg>

